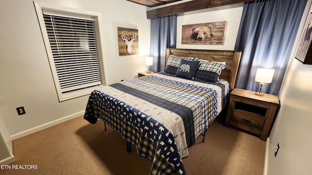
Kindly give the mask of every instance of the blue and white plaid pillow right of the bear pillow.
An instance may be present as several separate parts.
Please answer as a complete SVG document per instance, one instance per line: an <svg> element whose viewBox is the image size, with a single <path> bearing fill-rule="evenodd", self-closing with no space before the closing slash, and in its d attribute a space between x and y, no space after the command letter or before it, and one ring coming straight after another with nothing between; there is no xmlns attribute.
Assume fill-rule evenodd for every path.
<svg viewBox="0 0 312 175"><path fill-rule="evenodd" d="M226 65L222 63L214 61L200 61L194 78L199 78L209 82L217 82L219 81L221 70L224 70L225 68Z"/></svg>

